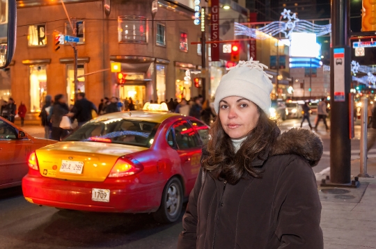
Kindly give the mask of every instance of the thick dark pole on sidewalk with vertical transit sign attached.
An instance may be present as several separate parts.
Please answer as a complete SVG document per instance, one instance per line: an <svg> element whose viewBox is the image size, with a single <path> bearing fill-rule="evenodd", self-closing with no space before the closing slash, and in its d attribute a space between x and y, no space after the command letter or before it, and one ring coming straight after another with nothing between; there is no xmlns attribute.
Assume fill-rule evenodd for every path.
<svg viewBox="0 0 376 249"><path fill-rule="evenodd" d="M350 0L332 0L330 184L323 179L322 186L351 186L349 121L351 50L349 46L349 31ZM353 185L357 185L354 182L356 181L353 181Z"/></svg>

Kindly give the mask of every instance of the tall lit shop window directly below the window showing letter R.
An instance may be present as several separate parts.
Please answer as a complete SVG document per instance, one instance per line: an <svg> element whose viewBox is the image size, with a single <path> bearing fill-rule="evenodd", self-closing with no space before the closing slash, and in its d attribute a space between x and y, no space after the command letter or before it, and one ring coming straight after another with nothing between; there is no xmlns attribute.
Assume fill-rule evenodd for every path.
<svg viewBox="0 0 376 249"><path fill-rule="evenodd" d="M47 72L45 65L30 66L30 109L40 111L47 95Z"/></svg>

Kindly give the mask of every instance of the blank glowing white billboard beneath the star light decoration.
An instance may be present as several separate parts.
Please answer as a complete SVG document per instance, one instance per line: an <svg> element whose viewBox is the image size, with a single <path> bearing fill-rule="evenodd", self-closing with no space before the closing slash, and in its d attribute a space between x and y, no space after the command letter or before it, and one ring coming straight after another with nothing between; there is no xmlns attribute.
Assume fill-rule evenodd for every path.
<svg viewBox="0 0 376 249"><path fill-rule="evenodd" d="M321 54L321 45L316 42L315 33L292 33L290 56L315 58Z"/></svg>

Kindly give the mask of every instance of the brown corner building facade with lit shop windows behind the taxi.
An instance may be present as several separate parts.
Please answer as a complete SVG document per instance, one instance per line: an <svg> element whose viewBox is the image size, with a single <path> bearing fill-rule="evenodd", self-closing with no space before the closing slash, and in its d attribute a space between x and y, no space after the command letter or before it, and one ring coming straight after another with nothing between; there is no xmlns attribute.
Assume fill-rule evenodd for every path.
<svg viewBox="0 0 376 249"><path fill-rule="evenodd" d="M17 2L17 47L13 63L0 77L3 99L12 96L38 113L46 95L64 94L74 102L72 47L57 47L54 31L73 35L59 1ZM187 70L201 69L201 55L190 42L201 29L189 6L157 0L65 1L77 30L78 90L99 104L103 97L132 97L136 109L153 100L198 95ZM156 2L155 2L156 3ZM154 12L154 13L153 13ZM111 72L111 63L118 71ZM200 74L198 74L198 77ZM192 77L193 78L193 77ZM0 82L2 82L0 81ZM9 95L7 95L9 93Z"/></svg>

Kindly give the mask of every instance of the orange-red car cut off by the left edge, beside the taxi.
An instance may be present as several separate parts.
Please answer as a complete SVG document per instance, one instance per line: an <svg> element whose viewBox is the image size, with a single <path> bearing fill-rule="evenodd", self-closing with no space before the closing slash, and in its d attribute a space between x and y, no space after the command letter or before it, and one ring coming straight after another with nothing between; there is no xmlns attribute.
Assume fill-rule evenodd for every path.
<svg viewBox="0 0 376 249"><path fill-rule="evenodd" d="M0 117L0 188L21 185L29 169L27 160L31 152L51 143L56 141L33 138Z"/></svg>

